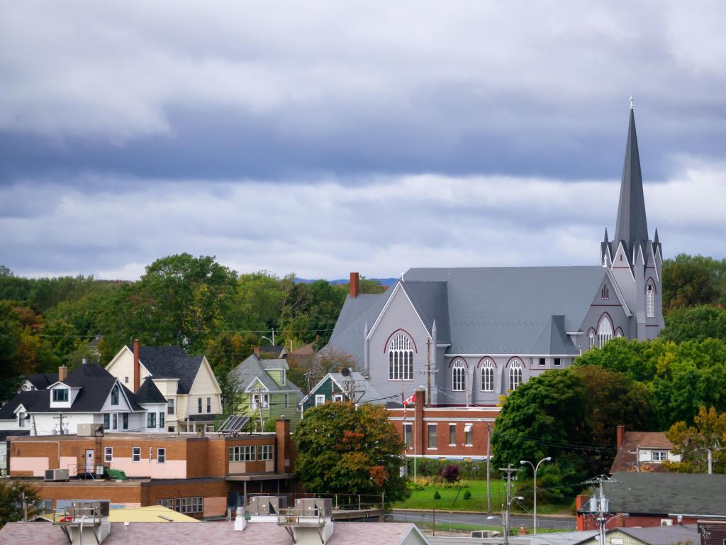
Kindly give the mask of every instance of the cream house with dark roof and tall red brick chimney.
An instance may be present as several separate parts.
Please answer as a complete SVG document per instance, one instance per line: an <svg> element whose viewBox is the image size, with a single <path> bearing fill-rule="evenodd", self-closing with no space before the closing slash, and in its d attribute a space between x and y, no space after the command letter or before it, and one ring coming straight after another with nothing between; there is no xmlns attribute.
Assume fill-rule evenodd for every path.
<svg viewBox="0 0 726 545"><path fill-rule="evenodd" d="M168 432L212 431L221 415L221 388L205 356L190 356L177 346L142 347L134 341L121 348L106 369L123 384L133 385L134 391L151 379L166 400Z"/></svg>

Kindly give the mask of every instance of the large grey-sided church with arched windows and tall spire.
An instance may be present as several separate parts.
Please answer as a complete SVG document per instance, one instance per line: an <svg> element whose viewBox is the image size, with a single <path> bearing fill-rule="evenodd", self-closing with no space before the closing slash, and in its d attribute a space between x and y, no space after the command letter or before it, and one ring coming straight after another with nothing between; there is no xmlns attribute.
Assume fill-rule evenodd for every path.
<svg viewBox="0 0 726 545"><path fill-rule="evenodd" d="M358 273L329 346L358 358L381 396L428 389L438 406L493 406L520 384L613 337L664 325L661 243L650 239L630 119L613 238L583 267L413 268L383 294Z"/></svg>

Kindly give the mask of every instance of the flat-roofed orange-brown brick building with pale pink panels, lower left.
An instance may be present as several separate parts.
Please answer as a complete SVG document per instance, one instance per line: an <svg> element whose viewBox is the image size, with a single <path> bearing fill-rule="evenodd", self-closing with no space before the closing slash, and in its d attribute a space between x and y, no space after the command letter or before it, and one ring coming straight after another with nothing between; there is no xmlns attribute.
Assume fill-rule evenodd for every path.
<svg viewBox="0 0 726 545"><path fill-rule="evenodd" d="M11 437L9 475L32 479L46 507L109 500L117 506L164 505L192 517L220 517L256 493L288 493L294 443L290 421L250 435L113 434ZM105 466L127 480L44 481L46 469L71 476ZM59 504L60 502L60 504Z"/></svg>

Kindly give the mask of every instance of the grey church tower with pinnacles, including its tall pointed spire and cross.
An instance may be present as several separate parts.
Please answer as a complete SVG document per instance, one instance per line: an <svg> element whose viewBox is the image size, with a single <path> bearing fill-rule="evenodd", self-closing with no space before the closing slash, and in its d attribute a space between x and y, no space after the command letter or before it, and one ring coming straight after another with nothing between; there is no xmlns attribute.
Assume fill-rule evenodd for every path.
<svg viewBox="0 0 726 545"><path fill-rule="evenodd" d="M635 113L630 99L628 140L620 182L620 200L613 240L600 244L600 264L611 270L627 303L633 320L626 336L632 339L653 339L664 325L661 305L661 266L663 254L658 230L650 240L645 217L643 175L635 133Z"/></svg>

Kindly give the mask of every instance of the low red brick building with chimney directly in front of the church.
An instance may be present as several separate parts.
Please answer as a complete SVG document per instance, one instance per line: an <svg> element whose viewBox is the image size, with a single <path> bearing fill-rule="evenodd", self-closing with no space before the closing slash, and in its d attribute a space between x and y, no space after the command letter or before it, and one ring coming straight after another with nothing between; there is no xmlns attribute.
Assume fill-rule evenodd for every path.
<svg viewBox="0 0 726 545"><path fill-rule="evenodd" d="M414 403L405 411L388 408L388 419L409 447L406 456L486 460L499 407L426 407L422 389L416 390Z"/></svg>

